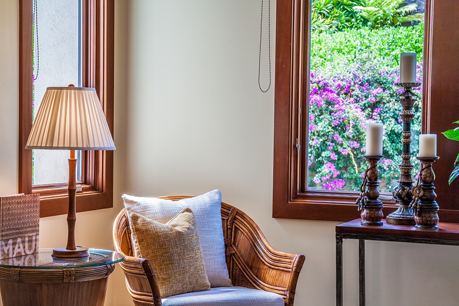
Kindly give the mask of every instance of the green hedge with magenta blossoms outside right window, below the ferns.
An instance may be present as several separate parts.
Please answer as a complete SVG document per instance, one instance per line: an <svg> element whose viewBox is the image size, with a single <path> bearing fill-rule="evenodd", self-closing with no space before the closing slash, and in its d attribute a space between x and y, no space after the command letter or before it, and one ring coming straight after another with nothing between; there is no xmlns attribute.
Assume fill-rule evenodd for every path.
<svg viewBox="0 0 459 306"><path fill-rule="evenodd" d="M398 82L400 52L417 52L418 63L422 62L422 37L423 24L312 34L309 188L359 189L368 165L363 158L368 122L384 123L379 190L391 191L398 185L402 120L397 93L402 90L393 84ZM422 67L417 68L421 80ZM413 109L412 152L418 145L419 105L420 98Z"/></svg>

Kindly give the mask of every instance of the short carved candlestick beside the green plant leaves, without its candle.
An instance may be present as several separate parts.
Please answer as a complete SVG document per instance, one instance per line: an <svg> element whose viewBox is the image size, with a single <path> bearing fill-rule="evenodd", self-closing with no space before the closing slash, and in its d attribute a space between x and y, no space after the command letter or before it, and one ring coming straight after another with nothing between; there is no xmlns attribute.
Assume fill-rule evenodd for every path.
<svg viewBox="0 0 459 306"><path fill-rule="evenodd" d="M436 201L437 194L435 193L435 187L433 181L435 181L435 173L433 173L432 164L439 159L435 157L416 157L421 161L421 189L422 195L417 203L415 209L415 221L416 227L421 228L438 228L438 210L440 207Z"/></svg>

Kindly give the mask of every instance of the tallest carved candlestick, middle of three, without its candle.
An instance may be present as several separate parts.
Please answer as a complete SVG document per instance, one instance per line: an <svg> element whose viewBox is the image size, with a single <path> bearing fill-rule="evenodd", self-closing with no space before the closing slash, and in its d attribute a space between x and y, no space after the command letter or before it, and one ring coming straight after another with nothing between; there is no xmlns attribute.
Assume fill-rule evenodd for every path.
<svg viewBox="0 0 459 306"><path fill-rule="evenodd" d="M416 101L417 95L412 92L414 87L419 87L421 83L395 83L396 86L404 89L403 93L399 95L398 101L402 105L400 117L403 120L403 132L401 143L403 145L401 158L402 161L398 165L400 169L400 180L397 181L399 185L394 188L392 195L399 201L398 209L386 217L386 222L389 224L403 224L414 225L415 216L410 208L410 202L413 197L411 189L413 188L413 179L411 171L413 165L411 164L411 120L415 113L413 112L413 105Z"/></svg>

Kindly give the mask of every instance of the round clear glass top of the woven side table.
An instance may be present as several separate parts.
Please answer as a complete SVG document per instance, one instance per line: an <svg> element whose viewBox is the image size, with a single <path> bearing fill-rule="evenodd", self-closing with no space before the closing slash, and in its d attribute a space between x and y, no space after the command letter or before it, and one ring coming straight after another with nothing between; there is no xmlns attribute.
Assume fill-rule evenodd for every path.
<svg viewBox="0 0 459 306"><path fill-rule="evenodd" d="M100 249L89 249L90 255L81 258L52 257L52 248L39 249L38 253L0 259L0 267L52 269L65 267L90 267L115 264L123 261L124 254Z"/></svg>

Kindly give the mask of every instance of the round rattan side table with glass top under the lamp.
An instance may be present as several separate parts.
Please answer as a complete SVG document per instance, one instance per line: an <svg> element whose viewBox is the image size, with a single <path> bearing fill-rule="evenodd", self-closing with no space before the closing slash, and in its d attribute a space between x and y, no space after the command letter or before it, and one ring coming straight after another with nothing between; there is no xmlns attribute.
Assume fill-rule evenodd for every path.
<svg viewBox="0 0 459 306"><path fill-rule="evenodd" d="M0 260L4 306L103 306L108 276L121 253L89 249L82 258L52 257L53 249Z"/></svg>

